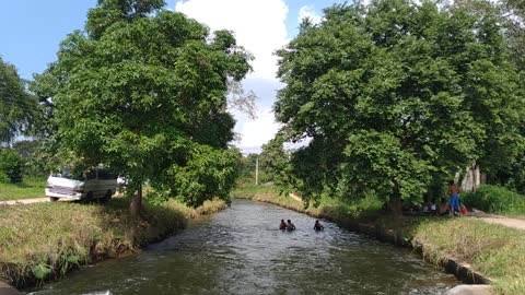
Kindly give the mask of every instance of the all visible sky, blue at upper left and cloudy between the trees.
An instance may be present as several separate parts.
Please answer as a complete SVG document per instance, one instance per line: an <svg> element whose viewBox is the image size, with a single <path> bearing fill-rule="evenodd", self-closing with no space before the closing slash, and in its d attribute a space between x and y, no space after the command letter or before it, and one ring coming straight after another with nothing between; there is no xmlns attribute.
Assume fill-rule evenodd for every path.
<svg viewBox="0 0 525 295"><path fill-rule="evenodd" d="M258 119L235 114L235 131L245 151L258 151L272 138L277 123L271 105L283 85L275 78L272 51L296 34L299 16L320 17L322 9L343 1L314 0L168 0L167 9L184 12L212 30L228 28L250 50L255 71L245 81L258 96ZM74 30L82 30L96 0L0 0L0 57L16 67L27 80L56 60L60 42ZM254 34L255 32L255 34Z"/></svg>

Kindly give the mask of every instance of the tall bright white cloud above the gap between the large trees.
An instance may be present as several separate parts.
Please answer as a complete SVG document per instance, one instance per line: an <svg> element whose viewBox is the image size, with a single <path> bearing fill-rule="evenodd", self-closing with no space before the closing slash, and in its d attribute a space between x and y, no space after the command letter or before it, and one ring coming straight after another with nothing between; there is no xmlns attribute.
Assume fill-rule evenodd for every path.
<svg viewBox="0 0 525 295"><path fill-rule="evenodd" d="M250 76L276 79L275 50L288 42L283 0L187 0L175 11L207 24L212 31L231 30L238 45L255 56Z"/></svg>

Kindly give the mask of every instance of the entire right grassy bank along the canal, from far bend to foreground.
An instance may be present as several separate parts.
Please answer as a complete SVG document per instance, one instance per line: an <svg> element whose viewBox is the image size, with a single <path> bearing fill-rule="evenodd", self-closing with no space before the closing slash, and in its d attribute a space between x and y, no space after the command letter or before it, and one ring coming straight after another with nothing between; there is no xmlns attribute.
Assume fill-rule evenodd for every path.
<svg viewBox="0 0 525 295"><path fill-rule="evenodd" d="M305 209L271 187L244 187L234 198L273 203L342 227L421 251L425 260L444 268L468 283L491 283L497 294L525 294L525 232L460 217L406 216L398 226L369 208L322 200Z"/></svg>

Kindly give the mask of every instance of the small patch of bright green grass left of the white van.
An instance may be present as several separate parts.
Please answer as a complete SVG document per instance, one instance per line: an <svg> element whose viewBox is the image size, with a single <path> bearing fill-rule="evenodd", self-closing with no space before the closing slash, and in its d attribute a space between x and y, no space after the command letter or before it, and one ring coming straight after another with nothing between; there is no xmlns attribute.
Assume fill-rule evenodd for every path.
<svg viewBox="0 0 525 295"><path fill-rule="evenodd" d="M45 197L46 177L24 177L20 184L0 182L0 201Z"/></svg>

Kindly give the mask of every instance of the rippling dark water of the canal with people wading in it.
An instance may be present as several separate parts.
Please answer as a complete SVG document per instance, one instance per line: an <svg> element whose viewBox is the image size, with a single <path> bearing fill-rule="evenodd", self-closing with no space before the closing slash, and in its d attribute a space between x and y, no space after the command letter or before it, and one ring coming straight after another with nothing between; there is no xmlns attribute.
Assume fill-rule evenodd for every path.
<svg viewBox="0 0 525 295"><path fill-rule="evenodd" d="M292 220L296 231L278 228ZM32 294L441 294L458 284L407 249L276 205L235 200L142 252Z"/></svg>

